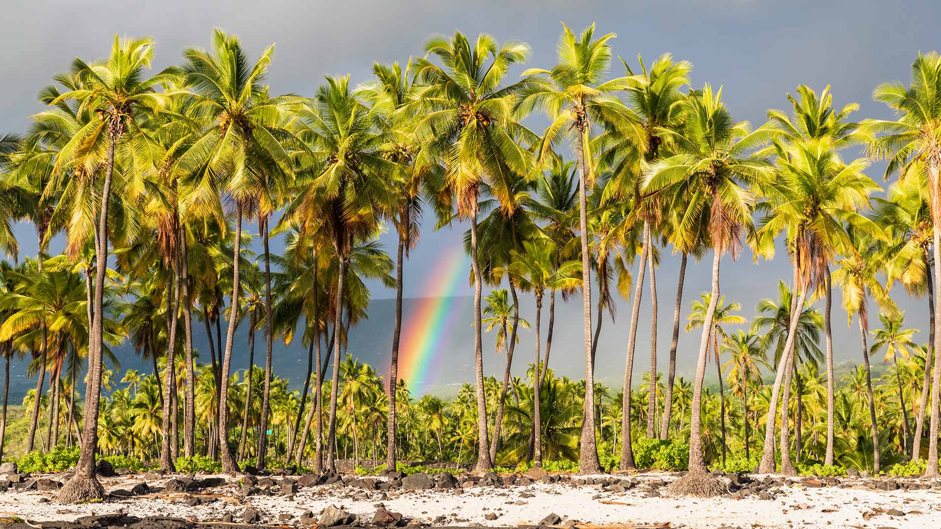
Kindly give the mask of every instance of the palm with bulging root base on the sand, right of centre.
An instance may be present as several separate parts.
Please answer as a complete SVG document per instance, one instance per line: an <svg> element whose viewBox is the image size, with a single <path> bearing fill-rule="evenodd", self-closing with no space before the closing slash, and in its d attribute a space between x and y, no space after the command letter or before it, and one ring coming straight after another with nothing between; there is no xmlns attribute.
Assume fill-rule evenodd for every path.
<svg viewBox="0 0 941 529"><path fill-rule="evenodd" d="M666 191L668 196L683 197L673 207L685 210L690 221L680 231L693 233L699 216L709 218L708 233L712 257L712 290L710 305L703 317L703 332L696 364L693 392L693 417L690 422L690 473L678 480L675 490L696 494L718 492L715 480L706 473L701 435L701 399L703 377L710 345L710 330L719 300L719 263L722 254L730 251L736 257L741 249L741 233L749 229L755 195L742 184L758 184L767 178L769 166L763 160L743 158L743 154L768 136L767 126L751 131L746 122L731 120L722 103L722 89L717 93L706 85L700 93L684 101L685 124L680 130L663 129L678 145L678 153L662 158L645 177L650 193ZM678 189L689 189L692 197L679 195Z"/></svg>

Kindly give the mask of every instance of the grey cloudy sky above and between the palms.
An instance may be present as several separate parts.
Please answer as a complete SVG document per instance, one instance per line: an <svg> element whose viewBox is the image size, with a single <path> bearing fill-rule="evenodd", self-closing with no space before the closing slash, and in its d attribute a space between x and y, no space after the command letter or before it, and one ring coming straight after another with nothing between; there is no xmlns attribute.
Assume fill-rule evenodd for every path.
<svg viewBox="0 0 941 529"><path fill-rule="evenodd" d="M423 42L429 36L450 34L455 29L470 36L486 32L501 42L525 41L533 50L526 66L549 68L555 60L560 21L576 32L596 22L599 34L617 35L611 41L614 55L622 56L630 65L637 64L638 54L647 63L663 53L690 60L694 86L705 82L722 85L724 101L733 116L749 120L754 126L764 122L769 108L789 109L786 93L793 93L802 83L818 92L831 85L837 107L858 103L860 110L853 115L855 119L889 118L891 113L885 105L871 100L872 89L889 80L907 81L917 53L941 47L936 27L941 20L941 3L927 0L72 0L9 3L4 12L0 46L7 52L2 59L0 132L24 131L28 116L41 108L36 94L52 75L66 71L75 56L87 60L104 56L115 34L152 36L157 42L157 69L178 62L185 47L208 46L214 27L239 35L253 56L275 42L269 75L271 92L311 95L325 74L348 73L354 83L359 83L369 78L374 61L405 62L409 56L423 54ZM620 73L620 67L614 67L614 73ZM858 151L844 153L847 158L858 155ZM882 182L882 171L883 166L874 165L869 174ZM460 244L464 230L457 226L435 232L431 218L425 224L421 242L407 262L407 297L442 294L432 287L437 284L436 264L445 251ZM32 229L18 226L16 230L22 252L34 253ZM391 233L382 240L390 251L394 249ZM275 241L273 248L277 251L279 246L282 244ZM678 259L668 253L665 256L658 272L661 329L668 327L672 319L678 269ZM704 264L691 264L684 306L709 289L709 261L707 258ZM737 263L724 261L723 293L730 300L742 302L742 313L749 316L760 297L776 297L777 281L789 277L786 256L755 264L746 251ZM472 288L462 281L454 293L470 296ZM392 296L390 289L374 285L374 297ZM925 302L901 299L903 293L898 296L902 308L908 310L909 327L927 329ZM577 315L577 300L569 304L573 305L572 315ZM630 303L621 300L619 317L614 325L606 322L605 332L613 338L626 337L629 319ZM582 332L580 321L574 320L579 325L556 330L570 338L573 347L578 345ZM845 313L837 312L837 344L843 345L841 340L845 339L848 344L852 341L847 346L857 347L858 330L847 329L842 325L844 321ZM641 326L639 344L648 344L649 338L643 333L647 325ZM926 335L922 332L918 339L924 341ZM665 350L668 330L660 333L660 342ZM684 334L681 348L683 344L697 345L698 335ZM612 357L623 359L620 352L612 353ZM613 365L618 361L623 366L623 360Z"/></svg>

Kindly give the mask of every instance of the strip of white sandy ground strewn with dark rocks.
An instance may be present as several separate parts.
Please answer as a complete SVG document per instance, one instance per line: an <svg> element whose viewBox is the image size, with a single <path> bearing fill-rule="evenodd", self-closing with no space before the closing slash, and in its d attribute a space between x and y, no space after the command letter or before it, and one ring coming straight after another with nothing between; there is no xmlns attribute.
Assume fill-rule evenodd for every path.
<svg viewBox="0 0 941 529"><path fill-rule="evenodd" d="M55 477L55 476L54 476ZM202 476L200 476L202 477ZM563 521L600 525L656 525L714 529L755 527L925 527L941 528L941 489L879 491L862 486L806 489L796 484L774 489L774 500L754 496L736 500L646 497L645 481L673 479L669 474L645 473L641 486L625 492L605 492L598 486L572 483L504 488L473 487L455 490L365 491L338 485L299 489L293 498L284 496L241 497L235 485L199 492L219 495L213 503L188 506L183 502L197 493L169 497L134 497L88 505L58 505L55 492L13 491L0 493L0 513L28 521L74 520L91 514L123 512L137 517L169 516L193 521L218 521L231 514L241 521L247 507L262 512L263 523L299 524L301 513L316 516L327 505L337 505L369 521L375 505L401 512L407 519L438 525L518 526L536 524L550 513ZM756 477L756 476L752 476ZM102 479L106 490L130 489L143 476ZM150 485L162 485L152 481ZM387 497L388 495L388 497ZM611 503L605 503L611 502ZM903 516L885 511L898 509ZM292 515L290 521L279 515ZM496 514L496 520L486 515ZM440 520L439 517L445 517ZM286 517L285 517L286 518ZM492 516L491 516L492 518ZM436 519L439 519L436 521Z"/></svg>

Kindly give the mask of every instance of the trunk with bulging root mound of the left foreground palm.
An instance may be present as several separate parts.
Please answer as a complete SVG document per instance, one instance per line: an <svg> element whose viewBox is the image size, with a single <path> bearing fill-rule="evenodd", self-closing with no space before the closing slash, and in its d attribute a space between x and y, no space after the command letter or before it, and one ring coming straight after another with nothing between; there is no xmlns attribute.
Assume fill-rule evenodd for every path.
<svg viewBox="0 0 941 529"><path fill-rule="evenodd" d="M75 474L60 490L59 499L80 502L90 498L101 498L104 489L95 475L95 450L98 446L98 403L102 388L102 349L104 347L104 277L108 266L108 201L111 195L111 178L114 174L115 144L121 135L120 116L111 116L108 126L108 152L102 185L102 204L98 212L98 228L95 233L95 283L92 308L93 324L88 333L88 379L85 384L85 421L82 427L81 451Z"/></svg>

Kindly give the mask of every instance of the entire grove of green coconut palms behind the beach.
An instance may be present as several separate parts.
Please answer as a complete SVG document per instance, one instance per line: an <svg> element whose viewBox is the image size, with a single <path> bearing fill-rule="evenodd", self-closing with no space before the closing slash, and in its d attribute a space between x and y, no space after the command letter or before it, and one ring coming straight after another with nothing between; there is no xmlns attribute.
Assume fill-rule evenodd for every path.
<svg viewBox="0 0 941 529"><path fill-rule="evenodd" d="M25 451L80 454L60 499L102 496L96 454L164 471L193 457L226 473L274 461L323 472L349 457L394 468L401 457L475 472L577 460L595 473L659 464L656 449L690 470L676 492L704 495L716 490L707 465L879 472L927 459L919 470L936 476L941 57L917 56L908 86L875 89L896 120L852 121L855 104L837 109L829 88L801 86L789 110L752 129L732 119L721 88L691 86L686 61L613 64L613 38L564 26L557 63L515 78L528 45L456 32L405 65L375 64L359 86L328 76L312 97L270 93L273 46L253 59L218 30L209 49L186 49L162 72L150 39L76 58L40 90L48 107L26 133L0 143L0 242L15 256L11 225L23 222L40 248L0 270L0 353L7 386L14 355L36 377ZM531 130L534 114L549 126ZM848 148L865 155L844 160ZM888 161L885 194L869 160ZM403 267L429 217L469 226L475 379L451 401L415 400L397 377ZM377 242L385 227L398 235L394 258ZM65 249L49 255L59 234ZM270 253L271 234L284 236L282 255ZM721 295L720 265L746 248L756 261L783 248L793 275L733 332L748 322ZM657 313L663 259L679 260L669 369L657 371L654 317L635 390L640 307L647 290ZM711 265L711 290L687 312L690 259ZM396 288L385 381L345 351L375 280ZM863 360L838 380L834 285ZM893 286L927 297L927 345L905 328ZM529 320L521 296L534 298ZM555 376L550 352L555 304L580 296L578 381ZM602 351L625 355L614 393L594 368L617 296L631 313L626 350ZM701 329L691 381L675 373L682 325ZM231 362L238 326L245 369ZM517 377L520 327L534 351ZM208 338L208 361L195 333ZM485 334L505 358L502 380L484 376ZM119 380L111 347L127 340L152 373ZM275 340L307 348L300 391L272 374ZM878 355L891 365L873 378ZM713 364L717 389L704 385ZM8 388L4 441L7 412Z"/></svg>

